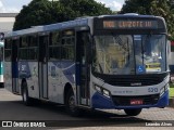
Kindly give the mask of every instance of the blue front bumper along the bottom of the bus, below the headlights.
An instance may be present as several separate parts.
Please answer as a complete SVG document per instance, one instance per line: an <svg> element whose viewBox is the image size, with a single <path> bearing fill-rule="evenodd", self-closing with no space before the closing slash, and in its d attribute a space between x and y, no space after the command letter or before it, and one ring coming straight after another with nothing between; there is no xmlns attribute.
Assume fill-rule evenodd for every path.
<svg viewBox="0 0 174 130"><path fill-rule="evenodd" d="M145 95L146 96L146 95ZM144 96L139 96L139 98L144 98ZM139 99L138 98L138 99ZM142 99L144 100L148 100L147 103L142 103L141 105L130 105L129 103L127 103L127 101L130 101L130 99L135 99L134 96L132 96L130 99L126 99L126 100L121 100L119 104L116 101L119 98L116 96L112 96L112 98L107 98L98 92L96 92L94 94L94 96L91 98L91 107L92 108L101 108L101 109L127 109L127 108L150 108L150 107L165 107L169 105L169 90L165 91L165 93L163 95L161 95L160 98L158 96L158 100L156 96L153 95L147 95L146 98ZM120 98L121 99L121 98ZM124 96L123 96L124 99ZM157 100L154 102L154 99ZM126 102L126 103L124 103Z"/></svg>

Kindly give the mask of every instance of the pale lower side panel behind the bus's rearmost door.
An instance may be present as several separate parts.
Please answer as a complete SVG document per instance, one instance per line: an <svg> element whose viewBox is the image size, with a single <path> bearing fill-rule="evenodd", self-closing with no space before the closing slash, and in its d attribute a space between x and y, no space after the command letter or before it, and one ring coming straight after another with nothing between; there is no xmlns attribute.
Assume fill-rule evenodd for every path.
<svg viewBox="0 0 174 130"><path fill-rule="evenodd" d="M4 63L4 88L12 92L12 63Z"/></svg>

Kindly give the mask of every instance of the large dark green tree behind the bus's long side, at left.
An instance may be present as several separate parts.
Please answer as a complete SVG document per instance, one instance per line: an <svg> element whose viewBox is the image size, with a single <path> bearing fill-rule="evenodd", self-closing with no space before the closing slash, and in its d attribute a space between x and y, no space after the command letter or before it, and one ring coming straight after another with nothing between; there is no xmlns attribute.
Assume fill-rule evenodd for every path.
<svg viewBox="0 0 174 130"><path fill-rule="evenodd" d="M13 30L102 14L112 14L112 11L95 0L33 0L16 16Z"/></svg>

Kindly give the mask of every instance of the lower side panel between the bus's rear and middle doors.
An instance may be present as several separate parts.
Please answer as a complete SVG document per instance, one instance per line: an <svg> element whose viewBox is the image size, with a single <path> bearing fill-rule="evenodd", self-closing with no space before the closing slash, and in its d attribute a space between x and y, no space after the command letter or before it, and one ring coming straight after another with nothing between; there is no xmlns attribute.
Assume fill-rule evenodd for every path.
<svg viewBox="0 0 174 130"><path fill-rule="evenodd" d="M28 95L39 99L38 62L18 62L18 81L26 79Z"/></svg>

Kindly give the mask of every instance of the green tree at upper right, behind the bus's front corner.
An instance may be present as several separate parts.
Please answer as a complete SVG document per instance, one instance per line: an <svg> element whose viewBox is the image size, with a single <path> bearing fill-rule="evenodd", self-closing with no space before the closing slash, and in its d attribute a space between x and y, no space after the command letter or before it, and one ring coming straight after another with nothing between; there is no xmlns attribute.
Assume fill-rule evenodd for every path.
<svg viewBox="0 0 174 130"><path fill-rule="evenodd" d="M120 13L138 13L164 17L169 35L174 38L174 6L170 0L126 0Z"/></svg>

